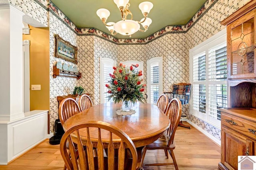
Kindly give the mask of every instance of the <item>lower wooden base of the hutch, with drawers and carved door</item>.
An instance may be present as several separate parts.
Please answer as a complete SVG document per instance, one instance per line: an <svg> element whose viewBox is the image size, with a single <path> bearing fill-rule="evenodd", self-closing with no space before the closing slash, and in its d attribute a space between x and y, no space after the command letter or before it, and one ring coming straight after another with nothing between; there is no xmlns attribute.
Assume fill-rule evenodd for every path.
<svg viewBox="0 0 256 170"><path fill-rule="evenodd" d="M256 109L221 110L220 170L237 170L238 156L255 155Z"/></svg>

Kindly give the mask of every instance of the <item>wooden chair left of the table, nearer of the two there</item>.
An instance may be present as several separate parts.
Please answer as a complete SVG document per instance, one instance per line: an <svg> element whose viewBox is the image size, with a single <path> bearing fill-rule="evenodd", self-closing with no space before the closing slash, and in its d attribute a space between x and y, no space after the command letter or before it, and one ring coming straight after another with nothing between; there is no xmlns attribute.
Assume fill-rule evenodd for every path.
<svg viewBox="0 0 256 170"><path fill-rule="evenodd" d="M76 100L72 98L62 100L59 106L59 119L61 125L63 126L68 118L79 113L80 111L80 107L78 106Z"/></svg>

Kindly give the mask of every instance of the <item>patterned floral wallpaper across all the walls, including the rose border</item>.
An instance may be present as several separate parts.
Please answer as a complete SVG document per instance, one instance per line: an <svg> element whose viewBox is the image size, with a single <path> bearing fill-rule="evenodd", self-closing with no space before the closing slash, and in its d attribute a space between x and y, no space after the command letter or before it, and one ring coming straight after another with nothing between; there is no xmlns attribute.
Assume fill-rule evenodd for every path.
<svg viewBox="0 0 256 170"><path fill-rule="evenodd" d="M116 62L127 60L146 61L163 57L163 90L169 91L173 83L189 82L189 49L224 29L220 21L244 5L245 0L207 0L186 25L172 25L145 39L116 39L95 28L77 28L52 2L48 0L10 0L18 9L41 24L50 26L50 130L58 117L56 96L70 94L74 86L81 85L91 94L94 104L100 103L100 57ZM47 14L49 12L49 18ZM78 46L78 70L82 78L52 78L52 66L56 61L73 65L53 56L54 33ZM184 105L183 113L198 127L220 140L220 129L209 125L189 113Z"/></svg>

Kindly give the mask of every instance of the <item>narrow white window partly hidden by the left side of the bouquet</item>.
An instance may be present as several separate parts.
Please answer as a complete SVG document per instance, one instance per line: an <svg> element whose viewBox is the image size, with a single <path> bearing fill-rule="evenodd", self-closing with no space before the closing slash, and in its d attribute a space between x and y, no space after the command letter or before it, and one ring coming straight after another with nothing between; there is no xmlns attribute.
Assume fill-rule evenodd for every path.
<svg viewBox="0 0 256 170"><path fill-rule="evenodd" d="M100 58L100 103L108 102L108 88L105 84L110 81L109 74L113 73L114 60L108 58ZM110 100L112 101L112 100Z"/></svg>

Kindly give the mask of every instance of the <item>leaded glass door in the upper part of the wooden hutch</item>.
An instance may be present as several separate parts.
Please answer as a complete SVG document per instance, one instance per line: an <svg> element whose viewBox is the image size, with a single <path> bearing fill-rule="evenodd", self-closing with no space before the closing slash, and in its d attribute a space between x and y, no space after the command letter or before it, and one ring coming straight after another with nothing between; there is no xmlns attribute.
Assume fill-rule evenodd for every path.
<svg viewBox="0 0 256 170"><path fill-rule="evenodd" d="M254 18L231 29L231 76L254 74Z"/></svg>

